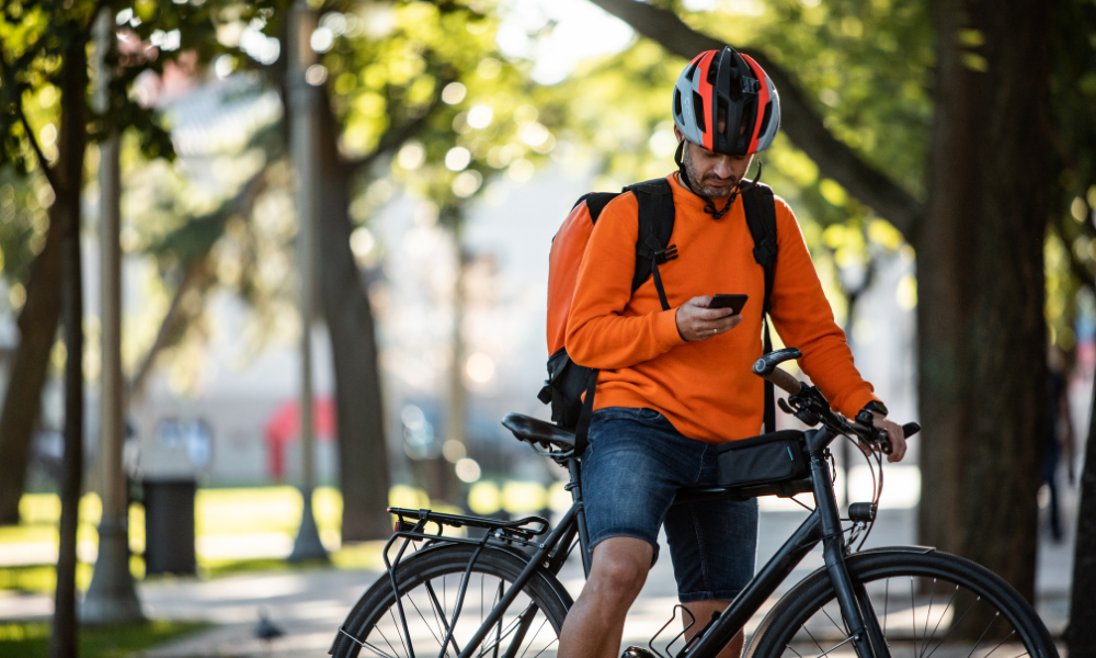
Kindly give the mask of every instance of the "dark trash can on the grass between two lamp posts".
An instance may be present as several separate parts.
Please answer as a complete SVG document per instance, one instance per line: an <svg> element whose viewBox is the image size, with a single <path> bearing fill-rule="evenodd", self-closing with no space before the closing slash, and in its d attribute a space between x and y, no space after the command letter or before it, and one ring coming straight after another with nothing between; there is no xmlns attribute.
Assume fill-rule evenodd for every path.
<svg viewBox="0 0 1096 658"><path fill-rule="evenodd" d="M197 574L194 495L197 481L144 480L145 572Z"/></svg>

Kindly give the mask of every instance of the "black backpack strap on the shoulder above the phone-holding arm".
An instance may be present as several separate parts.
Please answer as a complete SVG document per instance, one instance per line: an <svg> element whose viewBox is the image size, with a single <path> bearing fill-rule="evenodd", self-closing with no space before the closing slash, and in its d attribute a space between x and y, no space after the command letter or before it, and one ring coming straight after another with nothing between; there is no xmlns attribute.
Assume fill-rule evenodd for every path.
<svg viewBox="0 0 1096 658"><path fill-rule="evenodd" d="M636 272L631 279L631 291L643 285L648 276L654 275L654 287L664 310L670 310L666 292L659 275L659 265L677 258L677 249L670 245L674 232L674 193L670 181L652 179L625 188L625 192L636 195L639 203L639 232L636 239Z"/></svg>

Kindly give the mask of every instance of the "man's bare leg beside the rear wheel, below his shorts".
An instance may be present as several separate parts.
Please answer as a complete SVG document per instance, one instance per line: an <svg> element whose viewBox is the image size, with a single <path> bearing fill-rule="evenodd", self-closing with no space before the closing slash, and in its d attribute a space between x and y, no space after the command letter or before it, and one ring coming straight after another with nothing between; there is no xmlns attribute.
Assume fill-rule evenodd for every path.
<svg viewBox="0 0 1096 658"><path fill-rule="evenodd" d="M616 658L625 616L643 588L653 553L633 537L609 537L594 547L590 578L563 622L559 658Z"/></svg>

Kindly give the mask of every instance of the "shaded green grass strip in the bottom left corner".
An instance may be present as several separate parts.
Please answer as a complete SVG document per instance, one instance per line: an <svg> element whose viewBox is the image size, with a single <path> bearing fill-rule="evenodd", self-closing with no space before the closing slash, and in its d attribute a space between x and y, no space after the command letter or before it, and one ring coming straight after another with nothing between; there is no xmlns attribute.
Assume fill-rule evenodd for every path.
<svg viewBox="0 0 1096 658"><path fill-rule="evenodd" d="M209 624L197 622L144 622L80 629L81 658L124 658L153 645L201 631ZM46 658L50 627L45 622L0 623L0 658Z"/></svg>

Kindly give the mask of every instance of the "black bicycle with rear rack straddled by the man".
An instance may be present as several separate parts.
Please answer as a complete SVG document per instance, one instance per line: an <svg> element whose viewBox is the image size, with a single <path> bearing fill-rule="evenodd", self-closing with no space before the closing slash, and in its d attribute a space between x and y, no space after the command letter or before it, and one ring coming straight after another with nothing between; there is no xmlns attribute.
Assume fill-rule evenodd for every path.
<svg viewBox="0 0 1096 658"><path fill-rule="evenodd" d="M811 513L807 520L734 601L722 613L705 620L698 633L671 651L697 623L692 620L665 646L666 654L676 658L717 656L821 542L825 566L780 598L747 639L744 658L842 654L890 658L907 651L914 658L1058 658L1050 634L1031 605L984 567L923 546L863 551L882 492L882 454L890 446L886 434L871 427L869 416L861 412L853 421L845 419L830 409L818 388L776 367L799 356L794 348L772 352L752 370L789 394L787 402L780 400L785 412L810 427L822 426L795 433L798 446L809 457L809 475L749 486L683 489L674 504L797 494L813 494L815 504L808 508ZM330 654L340 658L555 655L572 603L556 576L574 548L579 548L586 575L590 570L580 455L575 454L573 434L551 423L511 413L503 424L537 454L568 469L567 489L573 503L559 524L550 529L539 517L505 522L390 508L398 521L385 547L388 570L351 611ZM912 435L920 427L909 423L903 429ZM869 464L874 458L878 466L872 467L872 500L850 504L846 519L841 518L834 496L829 450L841 436L855 436L869 449ZM427 524L436 531L426 532ZM446 536L445 527L479 529L484 534L481 538ZM400 540L396 559L389 561L389 549ZM409 545L420 542L423 546L404 557ZM631 647L625 656L666 658L655 649L654 640L676 619L677 608L682 606L675 606L674 616L651 638L649 649ZM682 610L684 622L688 611Z"/></svg>

